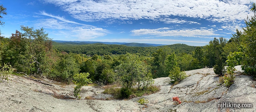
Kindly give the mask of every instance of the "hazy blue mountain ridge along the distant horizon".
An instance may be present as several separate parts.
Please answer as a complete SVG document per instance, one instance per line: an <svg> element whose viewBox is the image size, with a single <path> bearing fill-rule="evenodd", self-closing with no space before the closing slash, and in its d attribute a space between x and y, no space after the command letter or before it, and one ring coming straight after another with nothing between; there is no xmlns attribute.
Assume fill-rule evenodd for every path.
<svg viewBox="0 0 256 112"><path fill-rule="evenodd" d="M132 47L164 46L164 44L149 44L149 43L101 42L101 41L59 41L59 40L52 40L52 41L55 41L55 42L58 42L58 43L76 44L76 45L103 43L103 44L125 45L125 46L132 46Z"/></svg>

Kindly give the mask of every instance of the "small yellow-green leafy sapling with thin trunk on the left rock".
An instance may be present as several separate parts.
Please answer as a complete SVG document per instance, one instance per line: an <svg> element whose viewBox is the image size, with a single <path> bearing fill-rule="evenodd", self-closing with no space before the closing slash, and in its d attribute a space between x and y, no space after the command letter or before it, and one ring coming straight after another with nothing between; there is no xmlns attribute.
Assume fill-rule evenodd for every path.
<svg viewBox="0 0 256 112"><path fill-rule="evenodd" d="M81 87L88 85L89 83L92 83L92 80L88 78L90 76L89 73L77 73L73 76L74 80L73 82L75 83L76 87L74 88L74 96L78 99L81 97L79 96L79 92Z"/></svg>

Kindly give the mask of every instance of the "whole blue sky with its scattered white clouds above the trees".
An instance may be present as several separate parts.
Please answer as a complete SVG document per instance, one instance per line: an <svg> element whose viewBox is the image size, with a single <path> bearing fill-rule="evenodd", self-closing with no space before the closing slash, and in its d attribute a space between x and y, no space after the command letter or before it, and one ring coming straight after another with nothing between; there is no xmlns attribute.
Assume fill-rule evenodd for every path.
<svg viewBox="0 0 256 112"><path fill-rule="evenodd" d="M229 39L252 16L256 0L3 0L0 27L10 37L20 26L44 28L52 40L184 43L204 46Z"/></svg>

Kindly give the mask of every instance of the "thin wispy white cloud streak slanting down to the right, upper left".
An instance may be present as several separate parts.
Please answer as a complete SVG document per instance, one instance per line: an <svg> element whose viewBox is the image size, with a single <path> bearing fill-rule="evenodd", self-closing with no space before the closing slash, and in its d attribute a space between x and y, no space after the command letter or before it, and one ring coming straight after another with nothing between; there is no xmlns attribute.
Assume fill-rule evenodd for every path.
<svg viewBox="0 0 256 112"><path fill-rule="evenodd" d="M60 21L67 22L67 23L73 23L73 24L83 25L83 26L88 26L88 27L95 27L95 26L92 26L92 25L85 25L85 24L77 23L77 22L75 22L75 21L70 21L70 20L68 20L68 19L65 19L64 17L54 16L54 15L52 15L52 14L46 13L45 11L40 11L39 14L40 14L40 15L44 15L44 16L49 16L49 17L52 17L52 18L55 18L55 19L58 19L58 20L60 20Z"/></svg>

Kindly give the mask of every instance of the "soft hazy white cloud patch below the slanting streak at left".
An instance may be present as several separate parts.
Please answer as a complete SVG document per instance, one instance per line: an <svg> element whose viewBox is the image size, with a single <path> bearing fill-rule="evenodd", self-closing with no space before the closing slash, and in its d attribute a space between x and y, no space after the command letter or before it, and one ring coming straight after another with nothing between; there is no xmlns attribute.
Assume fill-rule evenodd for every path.
<svg viewBox="0 0 256 112"><path fill-rule="evenodd" d="M93 39L109 34L108 30L102 28L77 25L73 23L63 22L57 19L39 19L34 21L36 28L51 29L49 34L63 36L64 38L77 38L76 40L83 41ZM52 37L50 37L52 38ZM54 39L54 37L53 37Z"/></svg>

